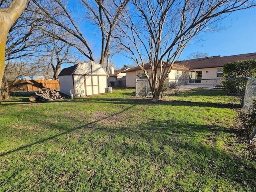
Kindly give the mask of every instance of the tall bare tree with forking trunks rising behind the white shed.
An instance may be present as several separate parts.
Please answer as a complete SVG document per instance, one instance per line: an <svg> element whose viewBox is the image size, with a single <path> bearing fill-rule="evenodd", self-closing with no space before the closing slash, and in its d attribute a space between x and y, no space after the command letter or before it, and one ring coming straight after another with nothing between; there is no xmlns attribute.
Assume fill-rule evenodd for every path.
<svg viewBox="0 0 256 192"><path fill-rule="evenodd" d="M112 38L116 32L116 23L120 22L120 16L129 0L80 0L76 5L80 6L80 9L84 12L83 17L80 18L80 20L82 20L81 22L77 21L78 18L74 16L74 8L72 8L66 1L32 1L42 10L44 16L48 18L52 24L60 26L63 30L74 36L76 41L70 42L56 34L52 34L52 36L58 40L62 40L70 46L73 46L86 58L92 61L95 60L95 56L91 48L92 46L89 44L83 32L80 30L80 24L82 21L87 21L87 24L93 24L96 26L100 30L100 33L98 34L101 35L101 56L99 63L101 65L106 64L106 66L109 66L109 64L106 62L110 60L110 57L114 53L118 52L116 50L110 52L110 49L114 47ZM52 10L53 6L58 9L57 14L52 14L52 12L49 12L49 10ZM51 9L49 9L49 7ZM65 22L63 22L63 20L65 20ZM77 42L81 42L83 47L78 46Z"/></svg>

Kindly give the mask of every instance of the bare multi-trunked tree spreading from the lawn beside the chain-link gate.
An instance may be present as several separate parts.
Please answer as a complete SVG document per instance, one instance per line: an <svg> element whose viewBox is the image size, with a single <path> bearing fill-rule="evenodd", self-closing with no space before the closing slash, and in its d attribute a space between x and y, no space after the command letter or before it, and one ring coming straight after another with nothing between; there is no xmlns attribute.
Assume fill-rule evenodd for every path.
<svg viewBox="0 0 256 192"><path fill-rule="evenodd" d="M119 28L124 34L120 42L148 78L153 101L158 101L174 62L192 38L218 30L222 18L252 6L255 0L132 0L122 18L126 28ZM149 59L149 72L143 57Z"/></svg>

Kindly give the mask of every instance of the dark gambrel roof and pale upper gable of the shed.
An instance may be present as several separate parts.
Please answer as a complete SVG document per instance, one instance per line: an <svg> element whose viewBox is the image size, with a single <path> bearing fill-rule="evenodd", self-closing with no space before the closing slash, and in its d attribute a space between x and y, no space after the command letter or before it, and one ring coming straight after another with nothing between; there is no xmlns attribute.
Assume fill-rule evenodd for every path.
<svg viewBox="0 0 256 192"><path fill-rule="evenodd" d="M79 63L77 65L64 68L60 72L59 76L68 76L68 75L108 75L106 70L102 65L94 62L88 61Z"/></svg>

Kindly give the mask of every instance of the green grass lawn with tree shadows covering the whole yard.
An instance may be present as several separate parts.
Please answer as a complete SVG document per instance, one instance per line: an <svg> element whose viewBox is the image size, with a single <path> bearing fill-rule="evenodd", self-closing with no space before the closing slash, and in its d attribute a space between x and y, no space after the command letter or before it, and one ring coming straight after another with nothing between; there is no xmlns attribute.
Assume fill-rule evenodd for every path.
<svg viewBox="0 0 256 192"><path fill-rule="evenodd" d="M256 152L222 90L134 89L0 106L0 191L255 191Z"/></svg>

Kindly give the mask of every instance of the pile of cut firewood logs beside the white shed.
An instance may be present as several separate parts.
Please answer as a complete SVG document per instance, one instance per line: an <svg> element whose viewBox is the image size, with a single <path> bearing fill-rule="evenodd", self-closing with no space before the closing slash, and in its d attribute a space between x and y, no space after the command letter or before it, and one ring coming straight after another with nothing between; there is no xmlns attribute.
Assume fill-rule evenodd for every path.
<svg viewBox="0 0 256 192"><path fill-rule="evenodd" d="M63 98L58 91L51 90L49 88L47 88L46 90L42 90L42 91L36 92L35 94L36 94L35 96L30 96L29 97L30 101L36 101L36 100L40 100L40 101L53 101L53 100L57 100L57 99L62 99Z"/></svg>

